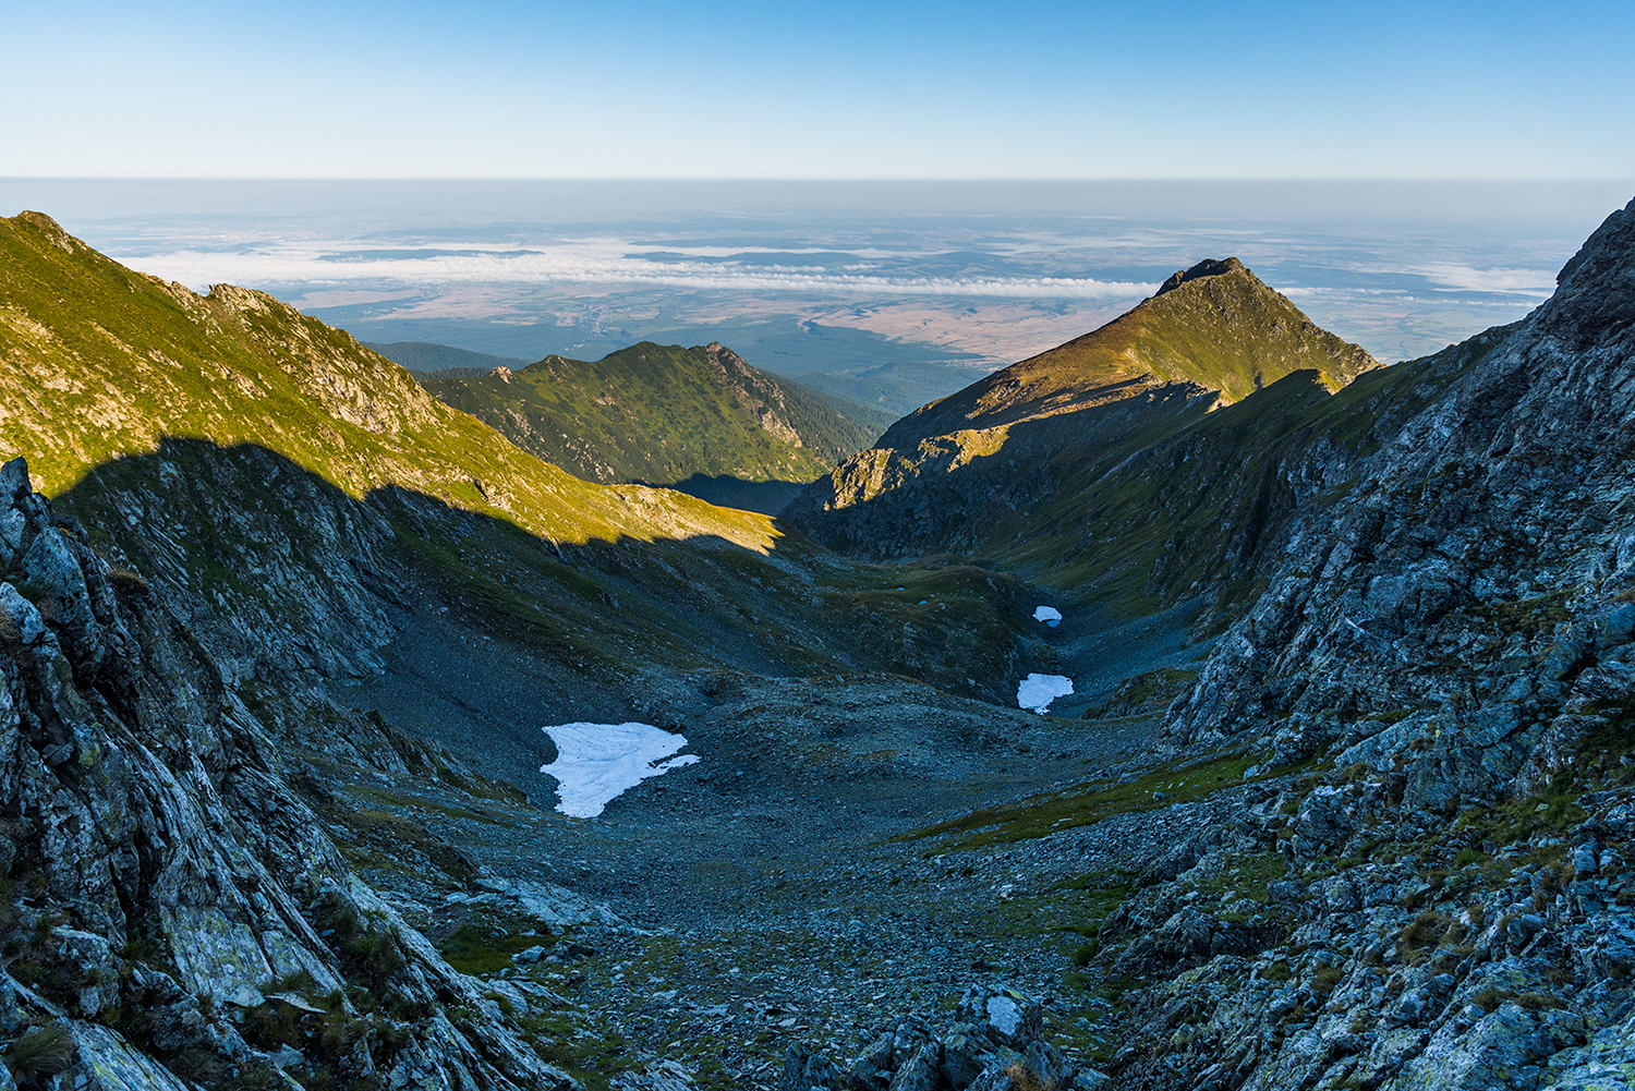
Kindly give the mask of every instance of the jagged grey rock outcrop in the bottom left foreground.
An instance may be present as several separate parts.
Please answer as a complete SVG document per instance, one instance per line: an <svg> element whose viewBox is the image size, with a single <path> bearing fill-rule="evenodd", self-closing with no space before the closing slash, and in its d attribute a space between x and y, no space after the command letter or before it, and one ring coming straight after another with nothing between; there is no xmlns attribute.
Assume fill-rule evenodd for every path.
<svg viewBox="0 0 1635 1091"><path fill-rule="evenodd" d="M352 875L221 664L23 460L0 469L0 816L23 1083L572 1083Z"/></svg>

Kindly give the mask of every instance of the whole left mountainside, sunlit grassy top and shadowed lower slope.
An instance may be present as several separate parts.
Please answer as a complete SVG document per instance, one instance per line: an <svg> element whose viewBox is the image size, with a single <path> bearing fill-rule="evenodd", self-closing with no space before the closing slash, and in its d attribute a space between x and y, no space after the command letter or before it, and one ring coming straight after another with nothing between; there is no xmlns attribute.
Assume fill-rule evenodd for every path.
<svg viewBox="0 0 1635 1091"><path fill-rule="evenodd" d="M407 625L473 664L505 640L587 702L700 667L974 677L999 697L1027 623L1015 577L858 566L765 515L585 483L342 330L136 273L38 213L0 219L13 455L124 579L209 618L250 690L371 677Z"/></svg>

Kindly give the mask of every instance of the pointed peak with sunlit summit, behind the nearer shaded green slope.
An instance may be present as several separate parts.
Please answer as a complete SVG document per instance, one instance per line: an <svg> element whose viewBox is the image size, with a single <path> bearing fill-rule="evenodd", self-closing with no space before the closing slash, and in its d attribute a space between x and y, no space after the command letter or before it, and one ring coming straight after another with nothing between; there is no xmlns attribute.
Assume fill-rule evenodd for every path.
<svg viewBox="0 0 1635 1091"><path fill-rule="evenodd" d="M863 556L1058 561L1073 553L1061 537L1084 532L1068 515L1040 540L1040 514L1092 505L1113 466L1290 375L1334 391L1375 366L1236 258L1202 262L1107 326L904 417L780 517Z"/></svg>

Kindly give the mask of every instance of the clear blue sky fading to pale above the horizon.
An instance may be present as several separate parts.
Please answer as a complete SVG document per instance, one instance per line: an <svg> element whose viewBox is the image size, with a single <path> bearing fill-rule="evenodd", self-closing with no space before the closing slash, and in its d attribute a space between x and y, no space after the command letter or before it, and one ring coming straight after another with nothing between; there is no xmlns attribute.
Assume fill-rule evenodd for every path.
<svg viewBox="0 0 1635 1091"><path fill-rule="evenodd" d="M0 177L1635 178L1635 3L0 3Z"/></svg>

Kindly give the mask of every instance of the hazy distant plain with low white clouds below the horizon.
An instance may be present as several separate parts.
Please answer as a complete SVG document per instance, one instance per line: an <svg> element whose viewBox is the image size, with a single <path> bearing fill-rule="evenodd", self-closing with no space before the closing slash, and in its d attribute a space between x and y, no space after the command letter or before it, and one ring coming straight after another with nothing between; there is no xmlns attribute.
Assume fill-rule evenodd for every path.
<svg viewBox="0 0 1635 1091"><path fill-rule="evenodd" d="M1386 361L1543 301L1627 183L0 180L128 265L370 342L721 340L906 412L1236 255Z"/></svg>

